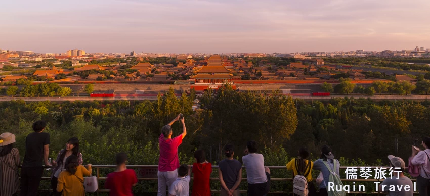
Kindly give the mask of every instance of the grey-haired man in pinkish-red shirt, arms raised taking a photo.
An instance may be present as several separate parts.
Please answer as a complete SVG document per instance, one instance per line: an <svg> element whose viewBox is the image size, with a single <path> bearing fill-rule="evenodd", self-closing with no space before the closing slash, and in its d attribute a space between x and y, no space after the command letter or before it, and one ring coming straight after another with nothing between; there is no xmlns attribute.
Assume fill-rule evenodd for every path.
<svg viewBox="0 0 430 196"><path fill-rule="evenodd" d="M161 128L161 135L158 138L160 147L160 158L158 159L158 196L166 195L166 185L170 188L171 184L178 178L179 158L178 146L181 145L182 139L187 135L184 117L181 114L173 119L169 124ZM171 138L171 125L181 121L182 134Z"/></svg>

